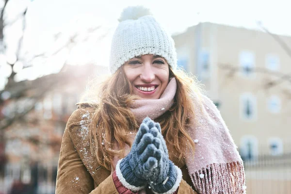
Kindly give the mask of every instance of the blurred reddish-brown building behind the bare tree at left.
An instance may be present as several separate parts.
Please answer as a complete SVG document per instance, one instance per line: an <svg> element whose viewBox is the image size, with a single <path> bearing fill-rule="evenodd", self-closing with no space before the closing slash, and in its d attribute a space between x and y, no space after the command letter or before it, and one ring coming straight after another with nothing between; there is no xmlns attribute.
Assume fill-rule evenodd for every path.
<svg viewBox="0 0 291 194"><path fill-rule="evenodd" d="M6 164L4 177L0 178L0 193L11 191L21 185L28 194L54 194L57 165L66 122L76 110L75 105L84 92L88 77L108 73L107 67L97 65L68 66L65 72L48 75L48 81L24 81L20 84L35 84L27 97L6 102L0 109L2 116L15 111L21 113L31 103L29 96L37 96L41 84L55 85L33 105L22 119L4 130ZM43 83L41 83L43 82ZM26 105L26 106L25 106ZM20 108L19 108L20 107ZM1 180L2 179L2 180ZM20 187L20 186L19 186Z"/></svg>

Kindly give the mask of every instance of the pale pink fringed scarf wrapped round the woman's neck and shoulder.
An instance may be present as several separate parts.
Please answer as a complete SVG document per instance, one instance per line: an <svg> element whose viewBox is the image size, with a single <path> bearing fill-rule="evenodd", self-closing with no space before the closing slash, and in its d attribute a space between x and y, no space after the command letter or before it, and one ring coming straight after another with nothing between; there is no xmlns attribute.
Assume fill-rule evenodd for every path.
<svg viewBox="0 0 291 194"><path fill-rule="evenodd" d="M139 123L148 116L156 119L169 110L174 102L177 82L173 78L160 99L135 100L131 111ZM194 189L199 194L242 194L245 177L242 159L236 145L213 102L194 93L194 116L187 129L195 143L193 152L186 154L186 165Z"/></svg>

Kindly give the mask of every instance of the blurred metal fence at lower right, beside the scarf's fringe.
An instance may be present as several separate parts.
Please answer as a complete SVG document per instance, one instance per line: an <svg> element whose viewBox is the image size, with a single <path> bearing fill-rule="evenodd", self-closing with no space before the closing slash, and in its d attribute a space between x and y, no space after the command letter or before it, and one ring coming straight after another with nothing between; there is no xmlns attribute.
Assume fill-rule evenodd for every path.
<svg viewBox="0 0 291 194"><path fill-rule="evenodd" d="M244 161L247 194L291 194L291 153Z"/></svg>

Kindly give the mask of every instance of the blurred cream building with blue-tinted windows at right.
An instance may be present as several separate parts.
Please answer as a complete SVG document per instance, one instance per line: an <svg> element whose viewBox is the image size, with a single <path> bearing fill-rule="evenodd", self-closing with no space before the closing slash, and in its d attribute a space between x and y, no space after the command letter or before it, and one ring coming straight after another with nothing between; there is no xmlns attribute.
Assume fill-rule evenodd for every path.
<svg viewBox="0 0 291 194"><path fill-rule="evenodd" d="M173 38L238 146L247 192L291 193L291 37L200 23Z"/></svg>

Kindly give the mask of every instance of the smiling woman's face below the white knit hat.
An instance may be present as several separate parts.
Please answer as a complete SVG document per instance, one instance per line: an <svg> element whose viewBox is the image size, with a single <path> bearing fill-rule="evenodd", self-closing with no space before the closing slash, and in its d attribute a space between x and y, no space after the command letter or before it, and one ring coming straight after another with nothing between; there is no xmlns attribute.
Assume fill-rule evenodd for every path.
<svg viewBox="0 0 291 194"><path fill-rule="evenodd" d="M158 55L143 55L124 64L134 94L142 99L159 99L169 82L169 65Z"/></svg>

